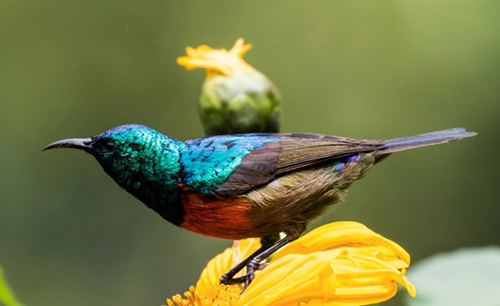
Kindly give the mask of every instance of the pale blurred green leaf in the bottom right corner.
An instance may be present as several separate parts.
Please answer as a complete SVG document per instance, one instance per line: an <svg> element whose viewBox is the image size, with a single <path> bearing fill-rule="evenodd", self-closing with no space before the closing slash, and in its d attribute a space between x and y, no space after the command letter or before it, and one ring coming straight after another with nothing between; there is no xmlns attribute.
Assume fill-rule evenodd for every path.
<svg viewBox="0 0 500 306"><path fill-rule="evenodd" d="M464 248L440 253L411 266L417 288L406 305L498 305L500 247Z"/></svg>

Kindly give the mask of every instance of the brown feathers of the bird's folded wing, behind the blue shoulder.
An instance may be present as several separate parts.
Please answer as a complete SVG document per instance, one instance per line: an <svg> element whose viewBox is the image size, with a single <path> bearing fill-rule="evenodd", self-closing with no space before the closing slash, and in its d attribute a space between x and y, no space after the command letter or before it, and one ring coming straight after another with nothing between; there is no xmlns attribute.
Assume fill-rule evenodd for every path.
<svg viewBox="0 0 500 306"><path fill-rule="evenodd" d="M281 139L266 143L242 158L241 164L223 184L218 194L240 194L270 182L274 176L305 169L359 152L386 145L377 140L359 140L320 134L275 134Z"/></svg>

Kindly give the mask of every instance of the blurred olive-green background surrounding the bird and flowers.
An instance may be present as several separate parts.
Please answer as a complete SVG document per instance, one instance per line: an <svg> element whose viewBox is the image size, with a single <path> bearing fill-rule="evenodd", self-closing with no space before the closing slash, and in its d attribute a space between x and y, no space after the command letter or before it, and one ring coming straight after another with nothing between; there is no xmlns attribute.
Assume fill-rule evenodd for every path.
<svg viewBox="0 0 500 306"><path fill-rule="evenodd" d="M29 305L159 305L230 245L164 221L84 152L40 149L123 123L203 136L205 72L175 60L238 37L281 90L283 132L479 133L390 157L313 226L363 222L413 262L500 244L498 16L494 0L3 0L0 262L12 287Z"/></svg>

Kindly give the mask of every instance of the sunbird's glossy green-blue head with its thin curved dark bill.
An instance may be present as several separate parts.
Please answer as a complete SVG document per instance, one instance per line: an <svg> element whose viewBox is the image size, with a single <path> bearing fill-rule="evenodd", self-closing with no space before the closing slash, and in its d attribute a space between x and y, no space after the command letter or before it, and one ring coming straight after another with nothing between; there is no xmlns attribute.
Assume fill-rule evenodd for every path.
<svg viewBox="0 0 500 306"><path fill-rule="evenodd" d="M169 160L176 154L168 154L176 141L139 124L114 127L91 138L64 139L46 146L53 148L82 149L93 155L104 170L122 187L134 187L155 175L163 175L160 168L168 168ZM157 170L158 169L158 170ZM149 175L151 177L143 177Z"/></svg>

